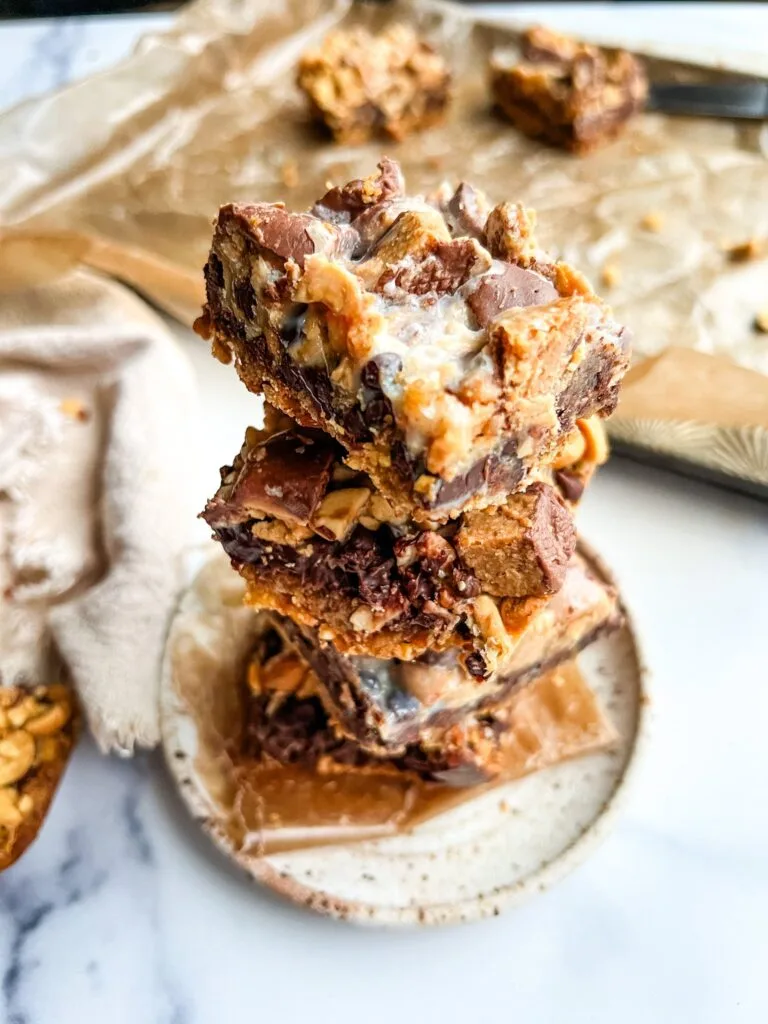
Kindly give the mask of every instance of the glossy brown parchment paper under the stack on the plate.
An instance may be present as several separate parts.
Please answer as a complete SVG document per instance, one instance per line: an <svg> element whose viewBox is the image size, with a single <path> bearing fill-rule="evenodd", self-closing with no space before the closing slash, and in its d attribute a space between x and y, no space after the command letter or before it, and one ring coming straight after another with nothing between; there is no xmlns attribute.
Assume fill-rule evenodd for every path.
<svg viewBox="0 0 768 1024"><path fill-rule="evenodd" d="M396 769L242 766L230 825L240 844L280 853L394 836L505 782L603 750L615 732L575 663L521 689L508 708L498 774L481 785L429 782Z"/></svg>

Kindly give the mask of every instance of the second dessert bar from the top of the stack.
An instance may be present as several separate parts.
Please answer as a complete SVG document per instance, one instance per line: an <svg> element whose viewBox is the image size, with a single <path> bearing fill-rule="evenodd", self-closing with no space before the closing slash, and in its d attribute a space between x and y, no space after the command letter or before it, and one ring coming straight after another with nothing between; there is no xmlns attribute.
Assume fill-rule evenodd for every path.
<svg viewBox="0 0 768 1024"><path fill-rule="evenodd" d="M573 479L604 459L584 439L604 437L599 422L583 427ZM566 578L575 529L554 477L426 529L396 515L342 454L268 409L264 430L249 428L221 470L203 516L249 600L351 653L409 658L459 646L484 676L507 643L500 601L546 598Z"/></svg>

